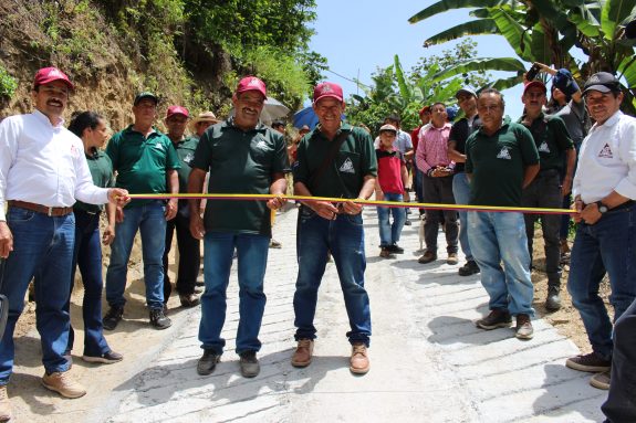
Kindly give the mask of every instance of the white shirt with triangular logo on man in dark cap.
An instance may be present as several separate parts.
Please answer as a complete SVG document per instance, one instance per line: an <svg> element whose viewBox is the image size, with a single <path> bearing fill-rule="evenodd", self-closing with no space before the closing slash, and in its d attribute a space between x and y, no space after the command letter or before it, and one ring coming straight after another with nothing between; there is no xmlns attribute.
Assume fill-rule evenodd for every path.
<svg viewBox="0 0 636 423"><path fill-rule="evenodd" d="M636 200L636 118L616 112L581 145L572 193L588 204L612 191Z"/></svg>

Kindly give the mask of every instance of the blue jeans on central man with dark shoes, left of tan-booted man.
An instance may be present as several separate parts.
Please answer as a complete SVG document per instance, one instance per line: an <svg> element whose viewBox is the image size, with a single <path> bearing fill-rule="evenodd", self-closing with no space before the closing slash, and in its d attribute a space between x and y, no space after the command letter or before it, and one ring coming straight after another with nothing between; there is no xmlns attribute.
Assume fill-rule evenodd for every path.
<svg viewBox="0 0 636 423"><path fill-rule="evenodd" d="M259 331L267 297L263 279L268 264L270 237L257 234L208 232L204 237L204 278L206 292L201 296L201 348L223 352L226 340L221 329L226 321L226 292L230 282L232 255L237 250L239 276L239 328L237 353L259 351Z"/></svg>

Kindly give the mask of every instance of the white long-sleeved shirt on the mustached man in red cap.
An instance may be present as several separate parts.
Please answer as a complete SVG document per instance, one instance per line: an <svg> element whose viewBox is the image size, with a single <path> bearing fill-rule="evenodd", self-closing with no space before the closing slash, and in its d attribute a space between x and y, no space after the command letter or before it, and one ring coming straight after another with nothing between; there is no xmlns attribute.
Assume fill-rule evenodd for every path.
<svg viewBox="0 0 636 423"><path fill-rule="evenodd" d="M108 202L108 190L93 184L82 140L63 124L51 125L39 110L0 123L0 221L8 200L46 207Z"/></svg>

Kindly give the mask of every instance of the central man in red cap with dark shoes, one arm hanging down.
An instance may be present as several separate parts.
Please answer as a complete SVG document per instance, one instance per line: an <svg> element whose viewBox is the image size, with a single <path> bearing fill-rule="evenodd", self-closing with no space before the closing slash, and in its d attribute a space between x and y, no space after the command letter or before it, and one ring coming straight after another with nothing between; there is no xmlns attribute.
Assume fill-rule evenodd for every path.
<svg viewBox="0 0 636 423"><path fill-rule="evenodd" d="M211 126L201 136L190 162L188 192L201 192L209 171L207 192L285 193L285 173L290 168L284 138L259 121L265 98L265 84L258 77L247 76L239 82L232 96L234 116ZM190 200L190 231L192 236L204 240L206 283L201 296L199 340L204 355L197 363L199 374L215 371L226 346L221 330L234 250L240 288L236 351L244 378L253 378L260 371L257 352L261 348L259 331L267 300L263 279L272 236L270 211L280 209L284 202L282 198L267 202L208 201L201 219L200 200Z"/></svg>

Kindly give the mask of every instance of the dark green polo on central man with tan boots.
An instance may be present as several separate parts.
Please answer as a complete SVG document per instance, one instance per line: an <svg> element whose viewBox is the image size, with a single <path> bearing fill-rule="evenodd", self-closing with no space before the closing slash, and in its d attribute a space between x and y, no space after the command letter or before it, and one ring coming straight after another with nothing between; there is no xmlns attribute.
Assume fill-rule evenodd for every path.
<svg viewBox="0 0 636 423"><path fill-rule="evenodd" d="M319 172L331 147L338 137L346 135L335 159ZM294 182L302 182L315 197L355 199L364 184L364 177L377 177L377 157L371 135L364 129L342 124L333 140L320 130L320 125L305 135L298 148L298 162L294 167Z"/></svg>

